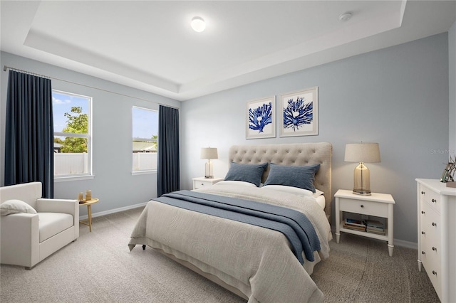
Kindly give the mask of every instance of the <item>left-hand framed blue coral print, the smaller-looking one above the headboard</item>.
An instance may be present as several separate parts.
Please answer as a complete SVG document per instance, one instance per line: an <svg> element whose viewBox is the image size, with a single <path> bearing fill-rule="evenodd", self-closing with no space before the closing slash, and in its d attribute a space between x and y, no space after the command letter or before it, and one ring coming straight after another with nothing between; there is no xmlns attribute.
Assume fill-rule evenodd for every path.
<svg viewBox="0 0 456 303"><path fill-rule="evenodd" d="M246 139L276 137L276 96L247 102Z"/></svg>

